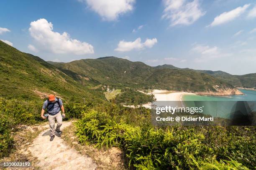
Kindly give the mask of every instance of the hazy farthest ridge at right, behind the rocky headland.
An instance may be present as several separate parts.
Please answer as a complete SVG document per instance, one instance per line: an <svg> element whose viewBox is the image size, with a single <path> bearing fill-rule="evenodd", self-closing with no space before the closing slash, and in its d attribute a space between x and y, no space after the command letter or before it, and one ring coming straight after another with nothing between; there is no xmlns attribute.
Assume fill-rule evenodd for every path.
<svg viewBox="0 0 256 170"><path fill-rule="evenodd" d="M246 74L246 75L231 75L224 71L211 71L211 70L194 70L190 68L178 68L173 65L159 65L156 68L169 68L169 69L179 69L179 70L192 70L200 73L205 73L212 75L220 80L228 82L235 87L245 87L245 88L256 88L256 73Z"/></svg>

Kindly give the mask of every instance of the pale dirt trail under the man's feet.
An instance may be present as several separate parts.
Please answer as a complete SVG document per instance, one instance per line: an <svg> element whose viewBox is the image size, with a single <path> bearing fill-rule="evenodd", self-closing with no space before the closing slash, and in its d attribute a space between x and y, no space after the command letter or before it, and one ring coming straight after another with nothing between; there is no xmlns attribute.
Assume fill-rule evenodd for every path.
<svg viewBox="0 0 256 170"><path fill-rule="evenodd" d="M61 130L71 123L63 122ZM44 130L28 148L39 160L36 166L42 170L96 170L97 165L90 157L81 155L74 148L67 146L57 133L54 140L50 142L49 135L50 130Z"/></svg>

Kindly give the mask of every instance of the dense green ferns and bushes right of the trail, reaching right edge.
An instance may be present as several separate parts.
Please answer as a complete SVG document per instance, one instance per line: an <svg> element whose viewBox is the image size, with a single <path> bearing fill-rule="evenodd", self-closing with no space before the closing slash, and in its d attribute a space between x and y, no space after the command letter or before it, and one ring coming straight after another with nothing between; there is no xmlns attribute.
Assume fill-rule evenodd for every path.
<svg viewBox="0 0 256 170"><path fill-rule="evenodd" d="M81 143L98 148L120 147L130 168L247 170L246 166L256 166L254 127L157 128L149 122L148 110L141 110L141 119L123 114L118 107L114 110L83 111L77 135Z"/></svg>

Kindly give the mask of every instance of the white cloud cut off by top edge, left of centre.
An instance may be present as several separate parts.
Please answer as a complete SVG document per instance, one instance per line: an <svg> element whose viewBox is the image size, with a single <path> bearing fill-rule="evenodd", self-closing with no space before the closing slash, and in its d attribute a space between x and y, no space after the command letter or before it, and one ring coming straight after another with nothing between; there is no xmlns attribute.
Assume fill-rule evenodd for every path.
<svg viewBox="0 0 256 170"><path fill-rule="evenodd" d="M136 0L79 0L98 13L103 20L113 21L124 13L133 10Z"/></svg>

